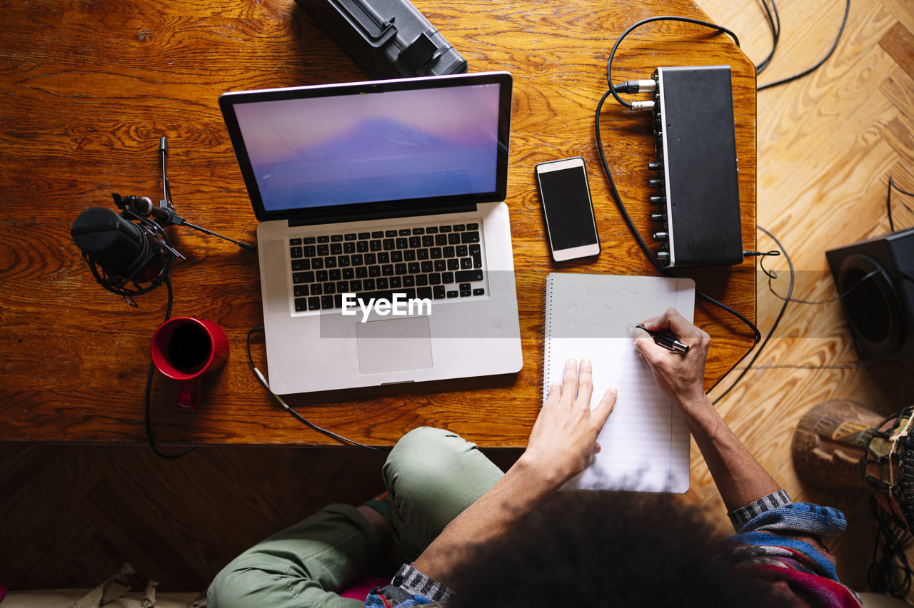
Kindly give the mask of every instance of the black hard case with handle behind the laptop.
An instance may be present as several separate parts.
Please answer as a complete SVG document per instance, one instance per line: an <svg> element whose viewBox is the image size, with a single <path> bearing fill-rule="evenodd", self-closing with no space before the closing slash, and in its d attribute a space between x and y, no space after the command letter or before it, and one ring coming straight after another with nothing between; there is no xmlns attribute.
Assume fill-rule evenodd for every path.
<svg viewBox="0 0 914 608"><path fill-rule="evenodd" d="M407 0L296 0L370 79L466 72L466 59Z"/></svg>

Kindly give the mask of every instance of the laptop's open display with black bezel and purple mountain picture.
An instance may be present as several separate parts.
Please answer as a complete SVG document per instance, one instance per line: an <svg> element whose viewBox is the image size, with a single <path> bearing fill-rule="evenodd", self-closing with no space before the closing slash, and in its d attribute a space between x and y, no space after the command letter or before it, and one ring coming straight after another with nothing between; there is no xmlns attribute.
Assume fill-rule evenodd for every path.
<svg viewBox="0 0 914 608"><path fill-rule="evenodd" d="M510 85L505 73L473 74L227 93L219 102L255 211L271 219L503 199Z"/></svg>

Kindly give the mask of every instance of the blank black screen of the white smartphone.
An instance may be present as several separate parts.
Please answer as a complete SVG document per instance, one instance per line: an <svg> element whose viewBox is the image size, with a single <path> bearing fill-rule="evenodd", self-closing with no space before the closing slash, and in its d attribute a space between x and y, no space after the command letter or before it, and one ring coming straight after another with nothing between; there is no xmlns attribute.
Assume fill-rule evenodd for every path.
<svg viewBox="0 0 914 608"><path fill-rule="evenodd" d="M538 173L539 196L546 210L554 251L598 242L584 167Z"/></svg>

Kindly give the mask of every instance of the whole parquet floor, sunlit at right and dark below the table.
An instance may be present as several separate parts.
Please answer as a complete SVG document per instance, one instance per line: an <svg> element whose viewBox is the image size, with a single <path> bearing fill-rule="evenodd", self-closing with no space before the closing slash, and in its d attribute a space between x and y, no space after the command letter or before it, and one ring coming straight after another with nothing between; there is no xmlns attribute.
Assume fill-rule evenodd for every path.
<svg viewBox="0 0 914 608"><path fill-rule="evenodd" d="M771 36L758 2L699 4L738 33L750 58L764 58ZM760 83L819 58L844 3L781 0L778 7L781 46ZM888 176L914 190L912 122L914 6L907 0L853 0L845 36L824 68L760 92L758 221L792 257L794 297L834 297L825 249L887 232ZM897 227L914 225L914 215L900 206L895 218ZM760 235L759 248L770 247ZM786 262L770 266L781 275L775 288L786 293ZM767 332L781 302L761 278L759 326ZM845 510L848 530L831 546L839 575L862 590L875 529L868 500L804 487L792 468L792 433L804 412L829 399L855 400L880 414L897 411L914 393L912 367L762 369L856 362L837 303L792 304L760 368L719 409L794 499ZM494 456L506 464L515 455ZM94 586L131 561L137 584L154 578L165 591L202 590L231 557L272 531L327 502L377 494L382 462L383 455L351 448L206 448L166 462L144 446L0 445L0 584ZM688 497L725 520L694 446L692 470Z"/></svg>

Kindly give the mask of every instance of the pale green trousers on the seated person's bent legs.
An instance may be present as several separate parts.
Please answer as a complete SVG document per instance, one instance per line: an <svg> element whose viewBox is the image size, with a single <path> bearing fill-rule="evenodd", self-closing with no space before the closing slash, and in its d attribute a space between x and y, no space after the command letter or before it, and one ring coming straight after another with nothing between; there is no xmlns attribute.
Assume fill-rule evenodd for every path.
<svg viewBox="0 0 914 608"><path fill-rule="evenodd" d="M394 540L414 561L452 519L502 476L476 448L441 429L420 427L399 440L382 469ZM342 598L377 556L377 532L351 505L330 505L263 540L218 573L214 608L356 608Z"/></svg>

